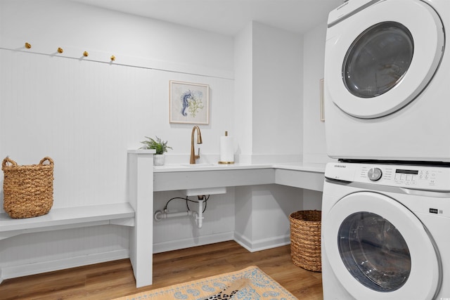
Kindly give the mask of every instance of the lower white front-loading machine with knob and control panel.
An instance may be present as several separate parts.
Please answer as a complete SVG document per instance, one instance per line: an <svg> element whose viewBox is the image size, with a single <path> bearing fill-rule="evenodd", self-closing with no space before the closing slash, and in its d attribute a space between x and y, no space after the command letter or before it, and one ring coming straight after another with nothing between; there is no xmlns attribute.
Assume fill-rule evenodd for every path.
<svg viewBox="0 0 450 300"><path fill-rule="evenodd" d="M450 299L450 168L336 162L325 176L324 300Z"/></svg>

